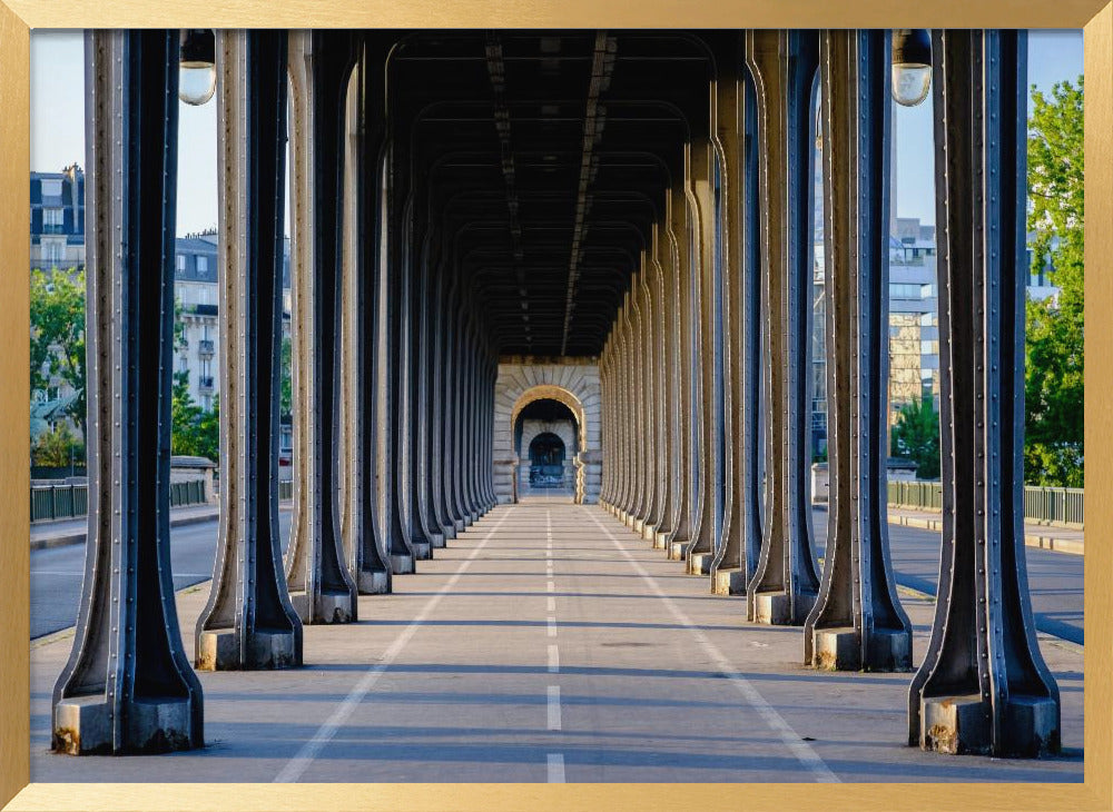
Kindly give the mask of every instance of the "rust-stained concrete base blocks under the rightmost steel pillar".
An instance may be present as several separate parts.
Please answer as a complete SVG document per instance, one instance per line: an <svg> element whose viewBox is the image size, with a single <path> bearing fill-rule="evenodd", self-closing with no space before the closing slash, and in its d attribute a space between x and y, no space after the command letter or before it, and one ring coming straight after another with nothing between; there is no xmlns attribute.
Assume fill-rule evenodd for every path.
<svg viewBox="0 0 1113 812"><path fill-rule="evenodd" d="M932 696L920 705L919 746L949 755L1036 757L1061 747L1058 707L1046 696L1012 696L1005 701L1002 740L1006 747L992 753L989 717L978 694Z"/></svg>

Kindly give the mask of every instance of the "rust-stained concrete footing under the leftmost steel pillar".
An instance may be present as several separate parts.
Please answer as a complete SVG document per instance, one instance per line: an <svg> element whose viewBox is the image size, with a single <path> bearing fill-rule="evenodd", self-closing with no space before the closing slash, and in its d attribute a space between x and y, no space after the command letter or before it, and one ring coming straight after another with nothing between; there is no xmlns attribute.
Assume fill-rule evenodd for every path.
<svg viewBox="0 0 1113 812"><path fill-rule="evenodd" d="M110 755L112 705L101 694L60 700L55 706L53 749L69 755ZM195 746L189 697L135 700L127 706L121 753L168 753ZM198 736L199 737L199 736ZM199 746L200 742L196 742Z"/></svg>

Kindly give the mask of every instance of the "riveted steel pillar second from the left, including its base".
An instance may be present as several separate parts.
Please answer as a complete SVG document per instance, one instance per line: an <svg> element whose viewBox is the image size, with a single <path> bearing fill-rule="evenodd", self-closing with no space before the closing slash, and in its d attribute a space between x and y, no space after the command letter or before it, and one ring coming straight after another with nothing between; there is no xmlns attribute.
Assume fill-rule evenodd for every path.
<svg viewBox="0 0 1113 812"><path fill-rule="evenodd" d="M287 48L285 31L217 33L220 524L201 670L302 664L278 529Z"/></svg>

